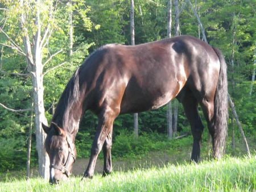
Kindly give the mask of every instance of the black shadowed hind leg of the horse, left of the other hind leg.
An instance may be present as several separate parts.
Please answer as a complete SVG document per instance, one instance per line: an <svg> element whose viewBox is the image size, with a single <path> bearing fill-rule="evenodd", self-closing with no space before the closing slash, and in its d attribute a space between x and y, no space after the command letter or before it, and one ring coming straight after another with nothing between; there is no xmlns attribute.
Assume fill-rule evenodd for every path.
<svg viewBox="0 0 256 192"><path fill-rule="evenodd" d="M187 91L182 99L185 114L189 120L191 131L193 135L193 148L191 154L191 160L199 162L200 160L200 147L201 139L204 130L203 123L201 122L199 113L197 111L198 102L192 95L191 91Z"/></svg>

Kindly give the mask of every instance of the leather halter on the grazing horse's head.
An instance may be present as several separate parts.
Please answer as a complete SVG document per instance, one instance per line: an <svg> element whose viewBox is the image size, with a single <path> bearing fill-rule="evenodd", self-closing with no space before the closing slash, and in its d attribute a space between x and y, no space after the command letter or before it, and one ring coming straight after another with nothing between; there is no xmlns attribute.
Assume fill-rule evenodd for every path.
<svg viewBox="0 0 256 192"><path fill-rule="evenodd" d="M76 155L73 151L73 148L71 147L72 145L71 145L71 139L70 139L69 135L67 135L66 140L67 140L67 143L68 143L68 158L67 158L67 160L65 161L63 166L51 164L49 166L49 168L60 170L61 173L65 174L67 177L69 177L71 175L71 172L69 172L69 170L67 169L66 166L67 166L69 160L71 159L71 157L73 157L74 162L76 161ZM59 150L59 152L60 152L60 150Z"/></svg>

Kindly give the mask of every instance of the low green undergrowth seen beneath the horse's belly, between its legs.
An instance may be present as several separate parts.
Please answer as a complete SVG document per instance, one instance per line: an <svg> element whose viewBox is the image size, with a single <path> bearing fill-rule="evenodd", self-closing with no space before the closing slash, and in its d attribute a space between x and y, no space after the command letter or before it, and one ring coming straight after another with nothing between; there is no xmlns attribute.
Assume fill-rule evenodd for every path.
<svg viewBox="0 0 256 192"><path fill-rule="evenodd" d="M133 132L120 130L119 135L114 137L112 154L114 158L138 158L154 151L171 154L177 153L179 149L183 151L183 148L190 147L191 142L192 138L190 136L182 140L170 140L167 135L161 133L142 132L142 135L136 138Z"/></svg>

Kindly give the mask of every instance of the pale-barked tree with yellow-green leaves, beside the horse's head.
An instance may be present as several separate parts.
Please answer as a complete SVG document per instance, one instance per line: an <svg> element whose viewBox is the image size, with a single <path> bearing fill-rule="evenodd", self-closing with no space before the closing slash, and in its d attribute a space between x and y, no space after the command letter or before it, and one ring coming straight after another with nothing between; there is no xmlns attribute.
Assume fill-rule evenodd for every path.
<svg viewBox="0 0 256 192"><path fill-rule="evenodd" d="M52 60L59 56L60 53L63 53L63 48L60 47L65 47L65 44L67 43L56 44L57 46L55 48L51 47L52 41L56 43L59 40L56 36L55 38L52 38L52 35L57 34L57 36L60 36L60 34L64 32L61 27L65 28L64 23L67 23L67 20L64 23L61 23L61 19L57 17L61 11L66 10L63 9L63 6L59 6L58 2L53 1L20 1L18 4L12 1L5 1L3 3L5 3L4 5L6 7L6 23L4 26L5 28L1 28L1 32L5 35L6 43L1 44L13 48L26 59L27 74L18 74L20 76L28 76L31 78L32 98L34 101L33 111L35 114L34 126L36 130L36 149L39 157L39 174L44 178L48 178L49 160L47 153L44 150L45 133L42 131L42 123L47 124L46 112L44 109L43 78L49 72L67 64L66 61L60 63L55 62L55 64L52 62ZM72 6L69 6L69 9L72 11ZM69 23L72 22L71 11L69 11ZM63 14L63 12L61 12L61 14ZM18 26L21 26L20 33ZM71 34L69 38L69 54L72 55L72 27L69 29L69 32ZM59 50L55 51L57 48ZM84 50L86 50L86 48ZM60 61L60 59L58 60ZM65 60L65 58L61 60ZM72 68L73 67L74 66L72 66ZM54 78L54 80L56 81L57 79Z"/></svg>

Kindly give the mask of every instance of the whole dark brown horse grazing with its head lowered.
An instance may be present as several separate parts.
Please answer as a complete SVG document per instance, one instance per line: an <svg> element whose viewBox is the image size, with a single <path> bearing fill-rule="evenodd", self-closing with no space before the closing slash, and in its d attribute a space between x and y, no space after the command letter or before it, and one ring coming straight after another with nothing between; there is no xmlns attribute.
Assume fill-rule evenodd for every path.
<svg viewBox="0 0 256 192"><path fill-rule="evenodd" d="M75 161L75 137L85 110L98 116L90 161L84 177L93 177L101 149L104 176L112 172L113 122L119 114L161 107L177 98L191 124L191 159L199 161L203 133L200 104L213 140L213 156L220 158L227 130L227 77L218 49L191 36L178 36L127 46L105 45L76 70L61 95L47 133L50 182L68 177Z"/></svg>

